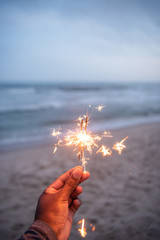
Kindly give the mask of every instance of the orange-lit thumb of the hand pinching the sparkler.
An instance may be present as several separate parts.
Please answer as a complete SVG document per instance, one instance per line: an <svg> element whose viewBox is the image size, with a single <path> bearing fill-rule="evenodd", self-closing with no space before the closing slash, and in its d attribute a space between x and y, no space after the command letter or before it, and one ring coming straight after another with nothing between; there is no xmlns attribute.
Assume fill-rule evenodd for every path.
<svg viewBox="0 0 160 240"><path fill-rule="evenodd" d="M79 167L75 168L61 190L61 192L65 197L67 197L67 199L79 184L81 177L82 177L82 169Z"/></svg>

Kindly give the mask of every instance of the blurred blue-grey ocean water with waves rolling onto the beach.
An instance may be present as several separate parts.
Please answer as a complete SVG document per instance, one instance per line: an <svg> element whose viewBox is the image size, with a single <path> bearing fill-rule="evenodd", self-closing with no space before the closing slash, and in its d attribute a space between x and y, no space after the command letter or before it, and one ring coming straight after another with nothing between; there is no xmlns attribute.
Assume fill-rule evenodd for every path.
<svg viewBox="0 0 160 240"><path fill-rule="evenodd" d="M53 128L75 128L90 104L105 105L93 111L94 131L160 121L160 84L0 85L0 148L52 141Z"/></svg>

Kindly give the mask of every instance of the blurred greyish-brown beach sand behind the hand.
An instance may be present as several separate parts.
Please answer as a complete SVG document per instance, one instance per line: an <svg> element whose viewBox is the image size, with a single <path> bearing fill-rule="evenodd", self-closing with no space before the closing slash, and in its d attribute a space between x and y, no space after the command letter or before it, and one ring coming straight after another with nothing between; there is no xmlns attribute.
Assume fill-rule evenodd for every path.
<svg viewBox="0 0 160 240"><path fill-rule="evenodd" d="M93 154L83 183L83 205L70 240L81 239L77 221L86 219L86 239L160 239L160 123L113 131L108 145L129 136L122 155ZM52 145L0 152L0 239L16 239L32 223L42 190L76 165L70 149ZM91 232L90 224L96 226Z"/></svg>

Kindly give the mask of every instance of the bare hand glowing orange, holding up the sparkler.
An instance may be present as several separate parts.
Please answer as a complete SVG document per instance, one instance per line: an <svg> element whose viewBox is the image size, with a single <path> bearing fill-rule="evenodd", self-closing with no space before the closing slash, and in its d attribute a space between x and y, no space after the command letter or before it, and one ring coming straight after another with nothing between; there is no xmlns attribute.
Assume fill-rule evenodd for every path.
<svg viewBox="0 0 160 240"><path fill-rule="evenodd" d="M81 205L78 199L82 193L81 182L89 178L82 167L75 167L61 175L47 187L39 198L35 220L51 226L58 240L69 238L73 217Z"/></svg>

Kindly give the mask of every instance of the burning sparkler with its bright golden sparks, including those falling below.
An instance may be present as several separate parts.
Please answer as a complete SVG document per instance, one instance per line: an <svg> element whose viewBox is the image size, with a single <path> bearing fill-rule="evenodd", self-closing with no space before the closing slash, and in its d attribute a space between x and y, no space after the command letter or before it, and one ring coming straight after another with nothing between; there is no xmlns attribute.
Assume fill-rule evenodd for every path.
<svg viewBox="0 0 160 240"><path fill-rule="evenodd" d="M89 107L91 107L91 105L89 105ZM105 107L104 105L99 105L94 109L97 109L99 112L101 112L104 107ZM57 131L53 129L53 132L51 133L52 136L58 139L58 142L54 146L53 153L57 151L58 146L74 147L73 151L77 151L78 161L82 162L82 167L84 171L86 170L86 163L87 163L87 160L89 159L89 158L85 158L84 156L85 151L91 154L93 148L98 148L96 152L97 154L102 153L103 156L112 155L112 151L109 147L107 148L105 145L102 145L101 147L99 147L98 145L99 141L103 137L113 137L111 135L111 132L105 130L102 133L102 135L99 136L97 134L93 134L92 132L88 131L87 127L88 127L90 117L91 115L88 116L88 114L83 115L82 117L80 116L76 120L78 122L77 123L78 129L76 128L75 131L68 130L62 139L60 138L60 135L62 134L60 129L58 129ZM118 151L119 154L121 155L122 150L126 148L126 146L123 143L127 138L128 136L122 139L120 142L117 142L116 144L114 144L112 149ZM85 219L83 218L81 221L78 222L78 224L81 224L81 228L78 229L78 231L80 232L81 236L84 238L87 235L87 230L85 227ZM92 231L95 231L94 225L90 224L90 227L92 227Z"/></svg>

